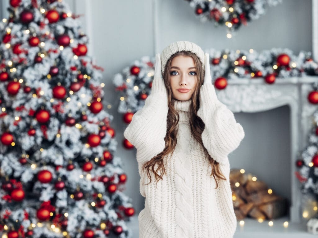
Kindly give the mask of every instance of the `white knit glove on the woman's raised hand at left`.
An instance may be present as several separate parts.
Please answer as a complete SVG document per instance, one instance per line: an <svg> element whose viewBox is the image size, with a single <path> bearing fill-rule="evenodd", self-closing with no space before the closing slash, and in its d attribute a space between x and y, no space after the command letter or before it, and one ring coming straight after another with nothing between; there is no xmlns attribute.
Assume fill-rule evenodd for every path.
<svg viewBox="0 0 318 238"><path fill-rule="evenodd" d="M167 89L164 85L161 72L161 56L159 53L156 54L155 75L151 86L151 95L153 94L160 94L161 96L166 96L166 98L168 99Z"/></svg>

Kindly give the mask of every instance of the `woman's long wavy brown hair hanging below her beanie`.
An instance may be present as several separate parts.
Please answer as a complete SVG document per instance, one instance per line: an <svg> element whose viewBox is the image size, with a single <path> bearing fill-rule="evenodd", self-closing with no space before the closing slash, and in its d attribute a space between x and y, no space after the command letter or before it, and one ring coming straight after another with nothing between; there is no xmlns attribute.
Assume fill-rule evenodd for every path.
<svg viewBox="0 0 318 238"><path fill-rule="evenodd" d="M215 178L215 176L217 176L219 179L223 179L226 180L226 178L224 177L224 175L221 173L220 168L219 168L219 163L217 161L215 161L208 153L208 151L206 150L206 148L203 145L202 142L202 138L201 138L201 134L204 130L205 124L202 121L202 119L197 116L197 110L200 107L200 101L199 101L199 96L200 96L200 87L203 84L204 81L204 70L202 67L202 64L199 60L199 58L192 52L190 51L178 51L175 54L173 54L165 67L164 73L163 73L163 80L164 80L164 84L166 86L166 88L168 89L168 106L169 106L169 110L168 110L168 116L167 116L167 134L164 138L165 141L165 148L163 149L163 151L161 153L159 153L158 155L154 156L153 158L151 158L150 161L144 163L142 169L147 169L147 175L150 179L151 182L151 175L150 175L150 168L152 169L152 172L155 174L156 177L156 181L158 182L159 179L162 179L162 175L165 173L165 168L164 168L164 162L163 162L163 157L166 155L169 155L170 153L173 153L176 144L177 144L177 131L178 131L178 122L179 122L179 114L177 112L177 110L174 108L174 102L176 101L176 99L174 99L173 94L172 94L172 89L170 87L170 83L169 83L169 76L170 76L170 68L171 68L171 61L174 57L176 56L190 56L193 58L194 63L195 63L195 67L197 69L197 85L196 85L196 89L191 97L192 103L190 106L190 129L191 129L191 134L193 135L193 137L201 144L201 146L204 149L204 154L206 155L206 158L209 159L209 162L211 164L212 167L212 171L211 171L211 175L213 176L215 181L216 181L216 188L218 188L218 182L217 179ZM155 167L156 171L155 171ZM160 175L157 173L157 171L161 171ZM150 183L149 182L149 183ZM149 184L147 183L147 185ZM216 189L215 188L215 189Z"/></svg>

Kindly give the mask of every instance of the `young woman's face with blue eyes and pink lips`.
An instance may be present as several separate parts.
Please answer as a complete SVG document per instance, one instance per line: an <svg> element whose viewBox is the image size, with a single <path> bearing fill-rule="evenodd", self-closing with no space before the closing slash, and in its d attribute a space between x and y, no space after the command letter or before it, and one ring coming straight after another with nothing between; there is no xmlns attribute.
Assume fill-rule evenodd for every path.
<svg viewBox="0 0 318 238"><path fill-rule="evenodd" d="M179 55L171 60L169 83L176 100L185 101L192 97L197 85L197 70L192 57Z"/></svg>

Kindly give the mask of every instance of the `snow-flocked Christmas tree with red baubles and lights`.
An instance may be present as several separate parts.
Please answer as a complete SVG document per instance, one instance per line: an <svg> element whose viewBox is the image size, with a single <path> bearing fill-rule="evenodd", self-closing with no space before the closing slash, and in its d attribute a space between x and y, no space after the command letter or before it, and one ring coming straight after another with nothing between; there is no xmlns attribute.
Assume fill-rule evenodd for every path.
<svg viewBox="0 0 318 238"><path fill-rule="evenodd" d="M8 0L9 1L9 0ZM129 237L127 179L100 67L61 0L11 0L0 24L0 233Z"/></svg>

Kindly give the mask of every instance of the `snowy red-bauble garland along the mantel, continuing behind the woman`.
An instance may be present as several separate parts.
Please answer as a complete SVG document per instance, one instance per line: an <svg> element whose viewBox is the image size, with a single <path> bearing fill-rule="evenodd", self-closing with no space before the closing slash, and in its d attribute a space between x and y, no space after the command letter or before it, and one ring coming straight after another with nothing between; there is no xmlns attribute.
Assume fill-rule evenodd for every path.
<svg viewBox="0 0 318 238"><path fill-rule="evenodd" d="M318 63L311 58L311 52L301 51L298 56L292 50L280 48L261 53L253 49L205 52L210 54L212 83L219 90L225 89L227 81L234 79L263 78L266 83L274 83L280 78L318 75ZM127 123L132 113L142 109L151 92L154 63L154 56L143 56L113 78L115 90L120 91L118 112L125 114ZM313 102L315 96L311 96Z"/></svg>

